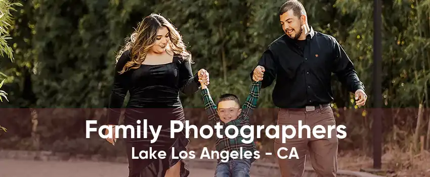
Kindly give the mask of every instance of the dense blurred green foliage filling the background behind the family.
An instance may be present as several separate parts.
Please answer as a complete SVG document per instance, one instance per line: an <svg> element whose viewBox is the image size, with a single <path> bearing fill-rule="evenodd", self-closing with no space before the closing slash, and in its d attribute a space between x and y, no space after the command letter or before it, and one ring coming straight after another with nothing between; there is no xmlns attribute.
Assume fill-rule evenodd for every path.
<svg viewBox="0 0 430 177"><path fill-rule="evenodd" d="M333 76L336 122L348 127L348 137L340 140L339 149L370 152L373 1L302 2L310 25L334 36L346 50L369 96L367 105L358 109L352 94ZM196 62L192 65L193 72L204 68L210 73L212 96L231 92L240 96L242 102L250 87L249 73L270 42L283 34L277 16L284 3L280 0L28 0L20 3L22 6L15 7L16 11L10 11L13 20L8 22L11 26L7 30L12 37L7 42L15 60L7 56L0 60L0 79L5 79L2 90L9 98L9 102L0 106L11 108L2 110L6 116L0 118L0 124L11 131L2 138L9 142L9 148L34 148L37 142L44 142L43 147L48 149L50 145L65 148L61 142L75 146L76 141L85 142L81 140L84 120L102 118L102 108L108 105L115 52L124 45L124 38L134 31L137 23L151 13L159 13L178 27ZM426 148L429 148L429 18L430 1L383 1L382 93L384 108L391 108L384 111L384 145L408 149L417 137L425 136ZM0 45L5 45L3 39ZM6 53L12 54L11 50ZM260 109L252 123L276 123L271 97L273 85L262 90ZM187 119L194 124L206 123L200 94L181 97L184 107L195 108L187 109ZM59 108L100 109L54 113ZM32 139L32 143L25 139ZM272 146L271 140L259 141L269 149ZM87 146L90 145L76 148ZM43 147L37 145L36 149Z"/></svg>

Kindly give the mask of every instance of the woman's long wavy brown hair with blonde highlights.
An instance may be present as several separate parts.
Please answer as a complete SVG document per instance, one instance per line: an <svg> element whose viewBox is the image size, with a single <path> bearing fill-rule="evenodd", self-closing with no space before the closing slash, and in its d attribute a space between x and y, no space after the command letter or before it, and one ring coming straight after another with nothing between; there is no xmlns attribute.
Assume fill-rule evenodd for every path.
<svg viewBox="0 0 430 177"><path fill-rule="evenodd" d="M118 62L118 59L125 51L130 50L131 60L124 65L122 71L119 72L120 74L129 69L140 67L143 61L145 61L148 51L154 45L158 29L161 27L166 27L169 31L170 41L168 42L166 50L173 51L174 54L182 55L185 60L192 62L191 54L187 51L182 41L182 36L175 26L168 22L163 16L152 13L139 23L138 28L130 37L125 38L125 46L117 53L115 58L116 62Z"/></svg>

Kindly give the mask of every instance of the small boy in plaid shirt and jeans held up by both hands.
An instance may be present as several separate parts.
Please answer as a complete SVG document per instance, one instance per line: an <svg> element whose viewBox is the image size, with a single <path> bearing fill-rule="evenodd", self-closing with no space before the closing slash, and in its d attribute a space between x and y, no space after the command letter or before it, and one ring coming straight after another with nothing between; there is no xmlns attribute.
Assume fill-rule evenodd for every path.
<svg viewBox="0 0 430 177"><path fill-rule="evenodd" d="M201 95L203 97L209 122L216 124L221 121L220 125L223 126L223 128L220 129L223 138L217 138L216 149L220 154L222 151L229 152L228 162L222 162L220 158L218 159L217 170L215 171L216 177L249 176L251 163L255 160L253 157L256 147L254 142L249 144L242 142L245 138L240 135L240 129L244 125L249 125L249 116L257 105L260 89L261 81L252 80L251 91L246 98L245 104L242 105L242 108L240 108L239 99L233 94L222 95L217 106L213 103L206 84L201 82ZM226 137L224 130L229 125L234 125L239 130L238 136L234 139ZM246 135L250 134L248 128L245 128L244 130ZM230 135L234 135L234 129L230 129L229 133ZM242 155L240 154L241 149ZM231 157L231 152L233 151L237 152L236 154L233 154L233 157L236 159ZM249 152L245 153L246 151ZM241 156L243 157L242 159ZM250 159L247 159L247 157L250 157Z"/></svg>

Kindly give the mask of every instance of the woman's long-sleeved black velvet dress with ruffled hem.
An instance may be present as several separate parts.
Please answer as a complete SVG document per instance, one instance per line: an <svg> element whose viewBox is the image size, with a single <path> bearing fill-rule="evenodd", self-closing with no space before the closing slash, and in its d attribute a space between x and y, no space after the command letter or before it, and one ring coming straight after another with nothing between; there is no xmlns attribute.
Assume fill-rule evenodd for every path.
<svg viewBox="0 0 430 177"><path fill-rule="evenodd" d="M119 58L115 71L121 71L127 61L130 61L130 52L125 51ZM128 169L130 177L164 177L166 170L181 159L171 158L171 148L175 148L176 156L180 151L186 151L189 140L185 138L184 131L176 133L170 138L170 120L180 120L185 125L184 110L179 93L191 95L200 88L197 73L193 75L191 63L183 56L175 55L173 62L160 65L141 65L123 74L115 72L114 84L109 103L108 124L118 124L120 109L127 91L130 92L124 113L124 125L132 125L137 131L141 125L141 138L131 138L131 131L127 129L126 152L128 156ZM151 143L153 135L147 129L147 138L144 138L144 119L155 130L162 126L157 141ZM137 120L141 120L138 124ZM120 136L122 137L122 133ZM135 157L140 151L165 151L164 159L132 159L132 147L135 148ZM156 153L157 155L158 153ZM188 176L189 170L182 161L181 177Z"/></svg>

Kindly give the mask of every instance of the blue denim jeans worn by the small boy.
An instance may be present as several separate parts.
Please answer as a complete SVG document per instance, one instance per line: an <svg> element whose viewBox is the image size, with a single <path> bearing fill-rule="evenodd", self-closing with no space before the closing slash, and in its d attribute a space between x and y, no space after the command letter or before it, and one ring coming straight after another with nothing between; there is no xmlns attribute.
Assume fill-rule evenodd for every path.
<svg viewBox="0 0 430 177"><path fill-rule="evenodd" d="M219 162L215 177L249 177L251 161L249 159L233 159L228 162Z"/></svg>

